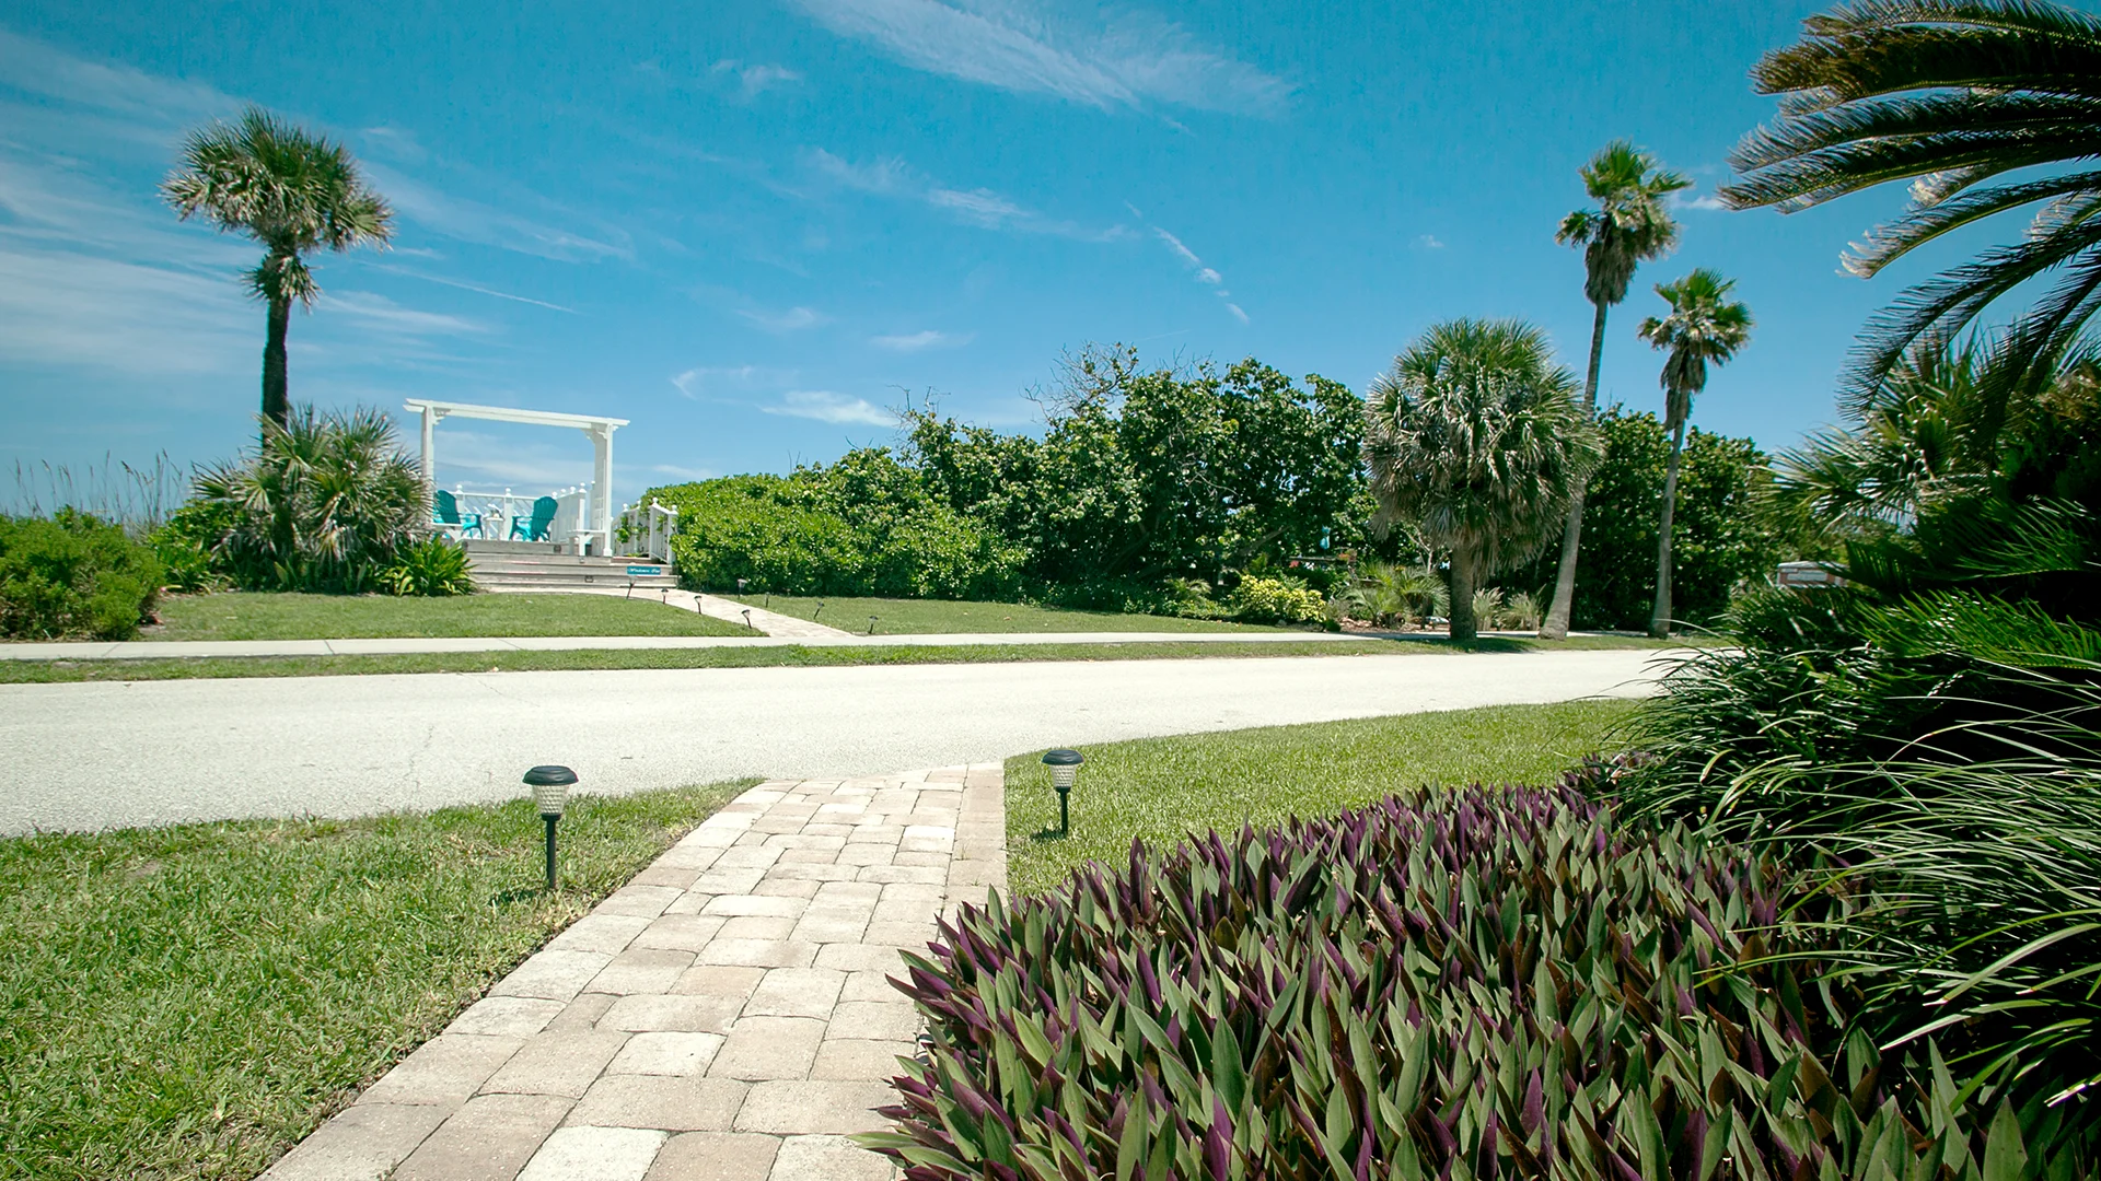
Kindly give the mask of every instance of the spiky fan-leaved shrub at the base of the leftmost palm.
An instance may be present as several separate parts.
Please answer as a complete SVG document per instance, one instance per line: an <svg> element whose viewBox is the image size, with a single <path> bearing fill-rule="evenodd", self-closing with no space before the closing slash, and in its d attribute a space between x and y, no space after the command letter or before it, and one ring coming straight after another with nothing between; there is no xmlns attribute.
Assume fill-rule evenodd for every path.
<svg viewBox="0 0 2101 1181"><path fill-rule="evenodd" d="M200 530L225 523L210 551L244 590L374 590L431 532L422 471L368 408L265 422L252 454L197 473L195 502Z"/></svg>

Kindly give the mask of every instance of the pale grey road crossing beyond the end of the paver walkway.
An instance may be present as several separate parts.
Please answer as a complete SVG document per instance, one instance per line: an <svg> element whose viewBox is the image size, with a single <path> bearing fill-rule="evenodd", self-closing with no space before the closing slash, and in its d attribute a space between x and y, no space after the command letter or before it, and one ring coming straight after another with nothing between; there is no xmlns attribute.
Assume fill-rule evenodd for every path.
<svg viewBox="0 0 2101 1181"><path fill-rule="evenodd" d="M0 685L0 832L849 778L1206 729L1641 696L1656 651Z"/></svg>

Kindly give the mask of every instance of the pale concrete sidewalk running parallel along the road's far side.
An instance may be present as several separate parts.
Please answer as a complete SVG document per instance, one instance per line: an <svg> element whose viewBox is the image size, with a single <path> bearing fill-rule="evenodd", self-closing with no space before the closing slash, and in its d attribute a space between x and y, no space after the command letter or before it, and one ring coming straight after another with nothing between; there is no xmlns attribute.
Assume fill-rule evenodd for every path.
<svg viewBox="0 0 2101 1181"><path fill-rule="evenodd" d="M786 618L786 616L782 616ZM796 620L803 622L803 620ZM815 624L807 624L815 626ZM828 633L828 635L826 635ZM0 660L162 660L170 656L382 656L403 651L578 651L681 647L956 647L1036 643L1385 643L1347 633L983 633L983 635L544 635L437 639L170 639L0 643ZM1406 651L1406 649L1401 649Z"/></svg>

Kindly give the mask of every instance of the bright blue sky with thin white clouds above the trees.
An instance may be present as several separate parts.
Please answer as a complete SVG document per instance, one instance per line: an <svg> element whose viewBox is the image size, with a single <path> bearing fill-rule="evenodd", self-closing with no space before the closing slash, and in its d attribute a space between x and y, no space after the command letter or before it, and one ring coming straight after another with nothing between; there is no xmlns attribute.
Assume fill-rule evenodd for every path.
<svg viewBox="0 0 2101 1181"><path fill-rule="evenodd" d="M1254 355L1361 391L1427 324L1517 315L1582 366L1553 231L1628 137L1698 181L1614 317L1601 397L1660 403L1635 326L1706 265L1759 330L1696 422L1796 441L1899 284L1838 254L1901 193L1725 212L1811 4L311 4L15 0L0 17L0 464L179 462L250 435L256 250L158 202L246 103L342 139L395 250L319 258L292 397L630 418L618 490L784 471L929 391L1038 424L1061 351ZM412 437L412 435L408 435ZM448 422L445 485L588 473L582 435Z"/></svg>

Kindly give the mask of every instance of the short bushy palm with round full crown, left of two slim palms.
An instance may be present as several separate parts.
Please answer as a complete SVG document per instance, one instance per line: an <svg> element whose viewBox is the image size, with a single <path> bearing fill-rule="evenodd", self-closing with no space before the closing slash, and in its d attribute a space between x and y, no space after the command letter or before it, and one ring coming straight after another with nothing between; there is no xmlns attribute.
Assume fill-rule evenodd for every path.
<svg viewBox="0 0 2101 1181"><path fill-rule="evenodd" d="M1416 338L1366 399L1378 525L1452 555L1452 639L1473 643L1481 578L1553 538L1599 460L1576 376L1517 319L1454 319Z"/></svg>

